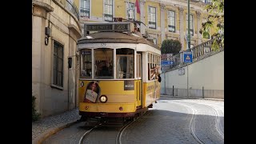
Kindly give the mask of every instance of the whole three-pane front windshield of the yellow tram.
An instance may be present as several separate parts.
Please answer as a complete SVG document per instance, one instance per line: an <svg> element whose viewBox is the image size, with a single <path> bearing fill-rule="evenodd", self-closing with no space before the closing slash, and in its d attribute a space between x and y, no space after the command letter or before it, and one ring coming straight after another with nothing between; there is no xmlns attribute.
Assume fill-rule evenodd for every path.
<svg viewBox="0 0 256 144"><path fill-rule="evenodd" d="M94 62L92 62L94 54ZM134 50L129 48L116 49L98 48L81 50L81 78L114 79L134 78ZM115 63L114 63L115 62ZM92 69L94 68L94 70Z"/></svg>

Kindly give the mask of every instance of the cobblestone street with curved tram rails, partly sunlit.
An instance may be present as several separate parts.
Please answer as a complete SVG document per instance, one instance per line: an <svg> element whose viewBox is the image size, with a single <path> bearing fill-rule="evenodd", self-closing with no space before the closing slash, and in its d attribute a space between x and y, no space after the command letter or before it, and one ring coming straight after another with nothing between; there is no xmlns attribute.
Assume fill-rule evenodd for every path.
<svg viewBox="0 0 256 144"><path fill-rule="evenodd" d="M60 130L43 143L78 143L93 126L84 122ZM122 126L98 127L83 143L114 143ZM224 143L224 102L160 98L141 118L126 127L126 143Z"/></svg>

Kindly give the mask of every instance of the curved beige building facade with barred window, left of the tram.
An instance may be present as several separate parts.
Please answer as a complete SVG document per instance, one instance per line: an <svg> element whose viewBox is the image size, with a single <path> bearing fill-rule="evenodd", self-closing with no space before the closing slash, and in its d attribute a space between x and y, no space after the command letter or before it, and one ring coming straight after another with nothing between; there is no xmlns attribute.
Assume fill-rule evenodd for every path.
<svg viewBox="0 0 256 144"><path fill-rule="evenodd" d="M32 95L42 117L78 106L78 16L66 0L32 1Z"/></svg>

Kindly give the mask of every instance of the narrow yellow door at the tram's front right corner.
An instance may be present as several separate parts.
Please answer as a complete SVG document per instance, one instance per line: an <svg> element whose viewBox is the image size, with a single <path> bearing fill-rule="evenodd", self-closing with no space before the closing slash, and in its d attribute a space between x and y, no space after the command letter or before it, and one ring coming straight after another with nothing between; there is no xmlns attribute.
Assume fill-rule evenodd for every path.
<svg viewBox="0 0 256 144"><path fill-rule="evenodd" d="M136 54L137 59L137 81L136 81L136 99L138 102L138 106L142 106L142 53L137 52Z"/></svg>

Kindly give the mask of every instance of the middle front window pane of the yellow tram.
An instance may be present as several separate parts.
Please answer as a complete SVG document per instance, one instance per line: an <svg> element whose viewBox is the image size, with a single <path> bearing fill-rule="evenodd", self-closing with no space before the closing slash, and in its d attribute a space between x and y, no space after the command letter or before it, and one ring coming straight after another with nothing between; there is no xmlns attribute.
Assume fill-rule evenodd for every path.
<svg viewBox="0 0 256 144"><path fill-rule="evenodd" d="M99 48L94 50L95 78L113 79L113 56L114 50L109 48Z"/></svg>

